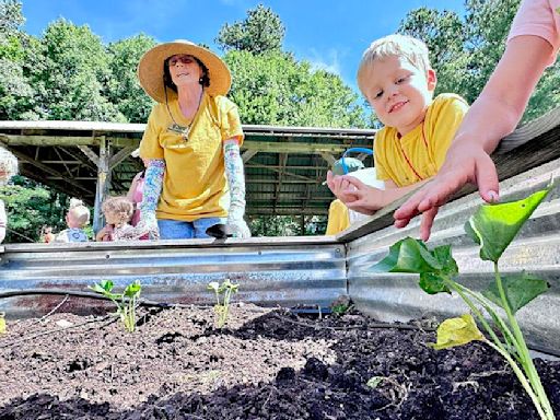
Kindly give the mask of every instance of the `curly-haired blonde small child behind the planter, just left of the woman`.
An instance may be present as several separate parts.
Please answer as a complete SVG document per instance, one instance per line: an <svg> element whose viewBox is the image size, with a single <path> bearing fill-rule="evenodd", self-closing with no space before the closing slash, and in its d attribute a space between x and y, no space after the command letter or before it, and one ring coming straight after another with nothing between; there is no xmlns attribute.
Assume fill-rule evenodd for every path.
<svg viewBox="0 0 560 420"><path fill-rule="evenodd" d="M109 197L102 206L107 224L95 235L95 241L133 241L138 240L137 230L130 224L135 205L127 197Z"/></svg>

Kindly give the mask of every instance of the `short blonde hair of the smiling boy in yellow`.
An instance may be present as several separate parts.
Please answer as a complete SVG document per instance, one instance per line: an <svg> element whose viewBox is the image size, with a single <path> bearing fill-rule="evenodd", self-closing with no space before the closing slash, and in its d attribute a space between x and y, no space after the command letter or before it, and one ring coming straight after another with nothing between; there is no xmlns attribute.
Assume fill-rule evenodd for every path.
<svg viewBox="0 0 560 420"><path fill-rule="evenodd" d="M417 69L427 72L431 69L430 58L428 57L427 45L412 36L393 34L374 40L363 52L360 67L358 68L358 86L363 90L363 72L373 65L375 60L397 56L406 58Z"/></svg>

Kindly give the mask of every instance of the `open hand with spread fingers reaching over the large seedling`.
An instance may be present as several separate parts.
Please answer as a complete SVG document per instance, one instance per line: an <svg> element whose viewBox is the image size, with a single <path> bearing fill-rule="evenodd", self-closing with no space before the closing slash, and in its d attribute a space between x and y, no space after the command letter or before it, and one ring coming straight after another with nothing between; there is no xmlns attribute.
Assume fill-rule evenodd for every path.
<svg viewBox="0 0 560 420"><path fill-rule="evenodd" d="M428 241L440 206L468 183L478 185L485 201L498 201L498 174L490 155L479 145L457 142L447 151L445 163L433 180L395 211L395 226L405 228L412 218L423 213L420 238Z"/></svg>

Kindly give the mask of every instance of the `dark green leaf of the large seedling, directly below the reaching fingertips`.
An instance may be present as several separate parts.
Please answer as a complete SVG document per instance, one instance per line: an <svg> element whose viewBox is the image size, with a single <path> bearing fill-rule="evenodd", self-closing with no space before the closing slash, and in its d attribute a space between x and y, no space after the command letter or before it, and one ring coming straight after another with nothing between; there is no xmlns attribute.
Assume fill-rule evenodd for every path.
<svg viewBox="0 0 560 420"><path fill-rule="evenodd" d="M370 267L373 272L436 272L440 261L428 250L422 241L405 237L389 248L389 255Z"/></svg>

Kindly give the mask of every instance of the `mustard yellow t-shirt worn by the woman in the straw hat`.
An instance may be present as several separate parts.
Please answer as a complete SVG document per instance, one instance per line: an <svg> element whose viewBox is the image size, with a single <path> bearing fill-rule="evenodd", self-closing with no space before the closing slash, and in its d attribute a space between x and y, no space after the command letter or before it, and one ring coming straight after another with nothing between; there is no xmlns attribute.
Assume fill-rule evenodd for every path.
<svg viewBox="0 0 560 420"><path fill-rule="evenodd" d="M156 104L140 143L142 159L165 160L158 219L191 222L201 218L228 215L230 194L225 177L222 142L236 138L243 142L237 106L224 96L202 95L190 126L188 141L168 128L174 121L187 127L177 100Z"/></svg>

